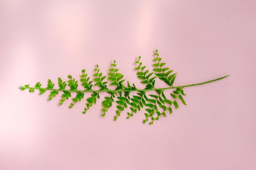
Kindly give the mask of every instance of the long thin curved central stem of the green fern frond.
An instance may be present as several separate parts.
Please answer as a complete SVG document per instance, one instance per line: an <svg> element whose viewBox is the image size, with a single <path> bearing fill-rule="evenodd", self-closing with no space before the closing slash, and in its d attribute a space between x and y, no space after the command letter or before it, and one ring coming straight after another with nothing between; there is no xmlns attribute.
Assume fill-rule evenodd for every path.
<svg viewBox="0 0 256 170"><path fill-rule="evenodd" d="M85 90L85 91L75 91L75 90L59 90L59 89L54 89L54 88L37 88L37 87L23 87L21 86L20 89L25 90L26 88L29 89L44 89L47 91L67 91L67 92L126 92L126 91L158 91L158 90L166 90L166 89L172 89L172 88L184 88L184 87L190 87L190 86L198 86L198 85L202 85L202 84L207 84L207 83L211 83L211 82L215 82L218 81L220 79L224 79L226 77L228 77L229 75L226 75L224 77L220 77L218 79L213 79L207 82L202 82L202 83L197 83L197 84L189 84L189 85L184 85L184 86L175 86L175 87L166 87L166 88L153 88L153 89L134 89L134 90L127 90L127 89L119 89L119 90L110 90L110 89L103 89L103 90Z"/></svg>

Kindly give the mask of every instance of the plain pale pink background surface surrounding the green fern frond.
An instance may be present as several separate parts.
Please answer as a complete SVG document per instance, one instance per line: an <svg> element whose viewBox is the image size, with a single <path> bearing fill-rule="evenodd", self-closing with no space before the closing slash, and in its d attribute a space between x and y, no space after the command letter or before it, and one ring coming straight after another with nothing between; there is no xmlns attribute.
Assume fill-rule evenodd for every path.
<svg viewBox="0 0 256 170"><path fill-rule="evenodd" d="M255 30L255 0L1 0L0 169L255 170ZM151 68L155 49L176 86L231 76L184 88L187 106L153 126L18 89L113 60L143 88L134 62Z"/></svg>

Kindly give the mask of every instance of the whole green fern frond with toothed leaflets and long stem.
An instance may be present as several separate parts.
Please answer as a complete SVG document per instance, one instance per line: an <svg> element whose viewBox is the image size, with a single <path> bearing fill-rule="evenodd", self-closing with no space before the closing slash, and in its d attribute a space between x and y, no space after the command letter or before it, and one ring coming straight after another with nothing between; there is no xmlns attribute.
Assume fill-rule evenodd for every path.
<svg viewBox="0 0 256 170"><path fill-rule="evenodd" d="M119 73L119 70L116 68L117 65L115 60L113 64L111 64L112 68L109 69L108 77L100 72L98 65L94 69L95 73L93 74L93 80L88 77L88 75L85 73L85 70L82 70L82 75L80 75L80 82L85 90L78 89L78 81L76 81L72 77L72 75L67 76L67 82L63 82L61 78L58 78L59 88L54 88L54 84L50 79L48 79L46 88L42 88L40 82L37 82L34 87L29 87L29 84L27 84L25 86L20 86L19 88L21 91L29 89L29 92L34 92L35 89L38 89L40 94L43 94L46 91L50 91L49 100L51 100L53 97L56 97L56 95L58 95L58 93L61 91L63 94L61 95L59 103L60 105L62 105L65 100L68 100L71 97L72 93L76 93L76 96L72 98L72 103L69 106L70 108L72 108L74 104L80 102L83 99L84 93L91 93L91 96L86 99L83 113L86 113L93 104L96 104L97 99L100 98L100 93L108 93L108 96L106 96L102 102L103 108L101 110L103 117L106 115L108 109L112 107L112 104L115 102L117 110L115 112L116 115L114 116L114 120L117 120L121 112L124 111L126 108L128 108L129 110L127 112L126 118L129 119L135 113L140 111L141 108L145 107L145 119L143 120L143 123L146 123L148 120L150 120L149 124L153 124L153 122L155 120L158 120L159 117L166 117L167 113L171 114L173 112L172 107L177 109L179 107L178 102L186 105L186 102L183 99L183 96L185 95L183 88L207 84L220 79L224 79L225 77L229 76L227 75L225 77L220 77L218 79L213 79L198 84L173 86L177 73L173 73L173 70L165 67L166 63L161 62L162 58L159 57L159 53L157 50L155 50L154 55L155 58L153 59L153 72L146 70L146 66L143 66L142 62L140 61L140 56L135 62L137 64L137 67L135 68L135 70L137 70L137 77L141 79L142 84L145 84L144 89L137 89L135 84L131 85L128 81L127 85L125 85L125 80L123 79L124 75ZM155 88L156 78L162 80L169 87ZM108 79L108 81L106 81L106 79ZM107 84L109 84L109 86ZM68 86L69 89L66 89L66 86ZM99 90L93 90L92 88L94 86L98 86ZM110 86L114 86L115 90L110 90L108 88ZM174 89L174 91L170 93L171 99L169 97L166 97L166 95L164 94L164 91L166 91L167 89ZM155 91L155 95L146 94L147 91ZM131 92L137 93L131 95Z"/></svg>

